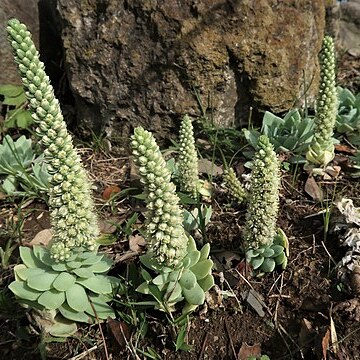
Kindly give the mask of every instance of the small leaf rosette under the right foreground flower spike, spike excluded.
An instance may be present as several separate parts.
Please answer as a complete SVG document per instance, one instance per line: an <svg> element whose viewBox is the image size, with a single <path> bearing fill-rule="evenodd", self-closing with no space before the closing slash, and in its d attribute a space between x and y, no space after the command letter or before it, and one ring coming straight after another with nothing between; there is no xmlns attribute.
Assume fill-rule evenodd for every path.
<svg viewBox="0 0 360 360"><path fill-rule="evenodd" d="M250 249L245 256L254 270L272 272L276 265L285 269L289 256L289 244L285 233L278 229L273 244Z"/></svg>

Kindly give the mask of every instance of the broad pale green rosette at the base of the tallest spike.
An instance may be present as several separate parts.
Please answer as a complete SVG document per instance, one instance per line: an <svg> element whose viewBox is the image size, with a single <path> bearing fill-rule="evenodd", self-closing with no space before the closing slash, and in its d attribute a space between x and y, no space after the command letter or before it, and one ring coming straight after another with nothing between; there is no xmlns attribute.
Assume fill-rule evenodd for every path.
<svg viewBox="0 0 360 360"><path fill-rule="evenodd" d="M15 266L9 289L21 303L74 322L115 317L107 302L120 283L106 276L112 262L104 255L79 249L68 261L57 262L47 248L34 246L20 247L20 257L23 263Z"/></svg>

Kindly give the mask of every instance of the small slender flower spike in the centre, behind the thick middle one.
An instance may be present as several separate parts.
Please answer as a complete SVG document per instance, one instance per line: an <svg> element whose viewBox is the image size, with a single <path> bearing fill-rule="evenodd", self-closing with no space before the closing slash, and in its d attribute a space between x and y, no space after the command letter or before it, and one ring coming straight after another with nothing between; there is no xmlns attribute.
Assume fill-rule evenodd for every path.
<svg viewBox="0 0 360 360"><path fill-rule="evenodd" d="M199 186L198 158L195 149L194 128L185 115L180 126L179 180L181 188L196 198Z"/></svg>

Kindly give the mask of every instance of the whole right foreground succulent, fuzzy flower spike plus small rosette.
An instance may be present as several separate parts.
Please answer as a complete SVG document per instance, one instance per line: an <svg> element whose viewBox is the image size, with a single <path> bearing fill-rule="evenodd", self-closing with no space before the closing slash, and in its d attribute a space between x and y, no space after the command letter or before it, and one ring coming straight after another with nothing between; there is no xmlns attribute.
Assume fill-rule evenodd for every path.
<svg viewBox="0 0 360 360"><path fill-rule="evenodd" d="M284 269L287 265L288 241L281 229L276 230L279 175L279 163L273 146L262 135L252 164L244 229L246 260L254 270L262 272L271 272L276 265Z"/></svg>

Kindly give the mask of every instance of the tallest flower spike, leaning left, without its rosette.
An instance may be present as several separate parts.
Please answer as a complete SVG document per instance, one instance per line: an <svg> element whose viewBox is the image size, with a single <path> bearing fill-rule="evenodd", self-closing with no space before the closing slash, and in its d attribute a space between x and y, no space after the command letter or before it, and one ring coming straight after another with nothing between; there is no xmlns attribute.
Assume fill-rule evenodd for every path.
<svg viewBox="0 0 360 360"><path fill-rule="evenodd" d="M50 251L54 259L66 260L75 247L96 250L99 231L90 183L30 32L17 19L9 20L7 31L51 175L49 205L53 239Z"/></svg>

